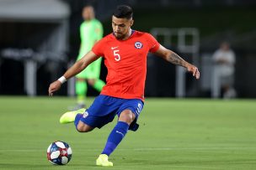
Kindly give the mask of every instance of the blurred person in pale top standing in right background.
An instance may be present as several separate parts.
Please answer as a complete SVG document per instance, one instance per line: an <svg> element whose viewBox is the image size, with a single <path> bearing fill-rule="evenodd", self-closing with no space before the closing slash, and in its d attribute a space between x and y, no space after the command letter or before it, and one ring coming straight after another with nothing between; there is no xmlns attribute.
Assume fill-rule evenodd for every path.
<svg viewBox="0 0 256 170"><path fill-rule="evenodd" d="M213 54L213 61L218 86L223 90L223 98L236 97L236 90L233 88L236 58L230 49L230 44L222 42L220 48Z"/></svg>

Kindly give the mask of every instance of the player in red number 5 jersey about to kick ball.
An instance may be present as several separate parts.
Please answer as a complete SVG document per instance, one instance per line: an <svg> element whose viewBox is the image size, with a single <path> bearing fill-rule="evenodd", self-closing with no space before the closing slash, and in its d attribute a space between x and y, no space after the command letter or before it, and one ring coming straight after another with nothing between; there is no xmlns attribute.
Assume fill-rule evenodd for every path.
<svg viewBox="0 0 256 170"><path fill-rule="evenodd" d="M100 95L88 110L69 111L60 119L61 123L74 121L77 131L88 132L95 127L101 128L118 116L104 150L96 160L96 165L99 166L113 166L113 162L109 162L109 155L115 151L128 130L138 129L136 121L144 105L148 52L157 54L172 64L181 65L196 79L200 78L195 65L165 49L151 34L132 30L132 14L129 6L118 6L112 16L113 33L99 40L88 54L49 87L49 95L53 95L66 80L84 70L88 64L99 59L99 56L104 57L108 75L107 84Z"/></svg>

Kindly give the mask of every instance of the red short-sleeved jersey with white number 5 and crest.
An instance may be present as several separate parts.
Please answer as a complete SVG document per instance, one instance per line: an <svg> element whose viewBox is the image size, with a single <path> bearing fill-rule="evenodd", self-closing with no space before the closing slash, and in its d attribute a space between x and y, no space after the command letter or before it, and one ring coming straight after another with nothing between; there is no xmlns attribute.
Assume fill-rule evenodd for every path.
<svg viewBox="0 0 256 170"><path fill-rule="evenodd" d="M129 39L119 40L113 33L93 46L93 53L104 57L108 69L101 95L144 100L147 53L160 44L149 33L133 31Z"/></svg>

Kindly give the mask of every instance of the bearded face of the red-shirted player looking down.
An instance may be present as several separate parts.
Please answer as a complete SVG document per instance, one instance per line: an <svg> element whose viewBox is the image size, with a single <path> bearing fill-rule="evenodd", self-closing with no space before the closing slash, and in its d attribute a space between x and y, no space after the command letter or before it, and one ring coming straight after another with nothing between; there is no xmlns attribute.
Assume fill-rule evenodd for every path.
<svg viewBox="0 0 256 170"><path fill-rule="evenodd" d="M112 17L112 28L116 39L127 39L130 36L130 29L133 20L126 18Z"/></svg>

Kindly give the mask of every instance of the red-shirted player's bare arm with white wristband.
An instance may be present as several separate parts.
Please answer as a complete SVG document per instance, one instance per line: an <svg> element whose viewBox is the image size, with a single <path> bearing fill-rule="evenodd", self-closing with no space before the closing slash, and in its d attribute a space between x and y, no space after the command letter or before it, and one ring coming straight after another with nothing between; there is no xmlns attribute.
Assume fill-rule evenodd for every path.
<svg viewBox="0 0 256 170"><path fill-rule="evenodd" d="M77 75L82 70L84 70L88 64L91 64L96 59L99 59L99 56L94 54L93 51L89 51L88 54L84 55L82 59L77 60L77 62L66 71L66 73L61 77L62 80L64 79L66 81L72 76ZM61 88L61 84L62 82L60 79L51 83L48 89L49 95L53 95L53 92L59 90Z"/></svg>

